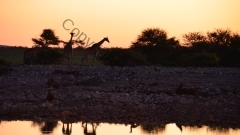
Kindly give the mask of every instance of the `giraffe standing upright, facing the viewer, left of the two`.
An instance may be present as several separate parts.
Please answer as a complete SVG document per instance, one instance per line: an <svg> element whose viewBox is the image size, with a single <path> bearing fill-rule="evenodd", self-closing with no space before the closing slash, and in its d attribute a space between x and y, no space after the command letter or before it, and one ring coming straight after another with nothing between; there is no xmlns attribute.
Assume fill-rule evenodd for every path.
<svg viewBox="0 0 240 135"><path fill-rule="evenodd" d="M73 45L72 37L75 33L70 33L70 34L71 34L71 38L70 38L69 42L66 43L66 45L64 46L63 54L65 55L68 62L70 62L72 64L72 57L73 57L73 54L72 54L72 45Z"/></svg>

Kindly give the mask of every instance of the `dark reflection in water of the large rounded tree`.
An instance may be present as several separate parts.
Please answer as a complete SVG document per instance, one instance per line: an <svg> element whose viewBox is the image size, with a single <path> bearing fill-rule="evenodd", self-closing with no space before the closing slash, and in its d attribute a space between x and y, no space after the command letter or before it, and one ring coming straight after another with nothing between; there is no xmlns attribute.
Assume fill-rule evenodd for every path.
<svg viewBox="0 0 240 135"><path fill-rule="evenodd" d="M165 131L166 125L151 125L151 124L142 124L141 129L147 133L158 134Z"/></svg>

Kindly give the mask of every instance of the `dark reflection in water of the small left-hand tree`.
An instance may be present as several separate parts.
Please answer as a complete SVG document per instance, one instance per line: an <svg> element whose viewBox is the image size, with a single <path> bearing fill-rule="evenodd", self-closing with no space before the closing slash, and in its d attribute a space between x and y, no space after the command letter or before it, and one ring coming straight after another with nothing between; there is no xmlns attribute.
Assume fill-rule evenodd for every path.
<svg viewBox="0 0 240 135"><path fill-rule="evenodd" d="M32 126L39 126L40 130L43 134L50 134L52 133L53 129L56 128L58 125L57 121L51 121L51 122L36 122L34 121L32 123Z"/></svg>

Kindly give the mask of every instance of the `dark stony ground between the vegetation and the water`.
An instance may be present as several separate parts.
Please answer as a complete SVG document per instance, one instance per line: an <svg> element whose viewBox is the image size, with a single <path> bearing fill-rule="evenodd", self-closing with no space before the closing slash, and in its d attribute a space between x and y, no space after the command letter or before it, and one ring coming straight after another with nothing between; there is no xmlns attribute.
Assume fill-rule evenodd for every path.
<svg viewBox="0 0 240 135"><path fill-rule="evenodd" d="M1 70L1 120L240 127L239 68L15 66ZM194 92L176 93L177 88ZM54 95L52 101L46 100L48 90Z"/></svg>

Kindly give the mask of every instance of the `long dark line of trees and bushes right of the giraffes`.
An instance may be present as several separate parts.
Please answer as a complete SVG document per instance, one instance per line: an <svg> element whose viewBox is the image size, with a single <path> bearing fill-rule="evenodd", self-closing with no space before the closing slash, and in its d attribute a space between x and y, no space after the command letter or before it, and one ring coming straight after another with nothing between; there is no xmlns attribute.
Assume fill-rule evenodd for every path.
<svg viewBox="0 0 240 135"><path fill-rule="evenodd" d="M105 49L99 54L107 65L161 65L239 67L240 35L229 29L183 35L183 43L159 28L142 31L128 49Z"/></svg>

